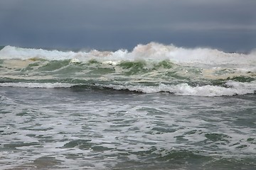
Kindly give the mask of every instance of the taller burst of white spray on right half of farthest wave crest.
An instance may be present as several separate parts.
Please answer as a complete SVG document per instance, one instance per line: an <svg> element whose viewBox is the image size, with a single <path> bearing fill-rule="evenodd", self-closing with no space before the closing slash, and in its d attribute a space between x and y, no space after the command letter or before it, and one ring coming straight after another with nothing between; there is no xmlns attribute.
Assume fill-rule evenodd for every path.
<svg viewBox="0 0 256 170"><path fill-rule="evenodd" d="M184 64L253 64L254 66L256 64L255 52L245 55L201 47L188 49L176 47L174 45L162 45L156 42L151 42L147 45L137 45L132 51L132 55L137 57L148 57L153 60L171 60L172 62Z"/></svg>

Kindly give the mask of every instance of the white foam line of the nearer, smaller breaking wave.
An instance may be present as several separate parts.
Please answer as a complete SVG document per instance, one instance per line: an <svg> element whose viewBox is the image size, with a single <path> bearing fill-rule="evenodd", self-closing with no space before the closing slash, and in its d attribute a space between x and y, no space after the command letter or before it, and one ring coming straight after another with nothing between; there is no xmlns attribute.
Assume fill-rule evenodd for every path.
<svg viewBox="0 0 256 170"><path fill-rule="evenodd" d="M78 84L68 83L1 83L1 87L21 87L21 88L70 88ZM99 85L100 86L100 85ZM105 85L104 85L105 86ZM256 81L238 82L228 81L225 86L190 86L188 84L166 85L159 84L159 86L137 86L137 85L107 85L107 87L116 90L137 91L145 94L168 92L176 95L184 96L233 96L243 94L254 94L256 91Z"/></svg>

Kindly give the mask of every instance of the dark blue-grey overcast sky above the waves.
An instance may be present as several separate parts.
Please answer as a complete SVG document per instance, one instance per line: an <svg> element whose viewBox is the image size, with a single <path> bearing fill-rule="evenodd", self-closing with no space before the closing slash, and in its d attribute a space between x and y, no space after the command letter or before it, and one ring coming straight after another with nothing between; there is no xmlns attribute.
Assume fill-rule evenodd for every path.
<svg viewBox="0 0 256 170"><path fill-rule="evenodd" d="M248 52L255 0L1 0L0 45L132 49L159 42Z"/></svg>

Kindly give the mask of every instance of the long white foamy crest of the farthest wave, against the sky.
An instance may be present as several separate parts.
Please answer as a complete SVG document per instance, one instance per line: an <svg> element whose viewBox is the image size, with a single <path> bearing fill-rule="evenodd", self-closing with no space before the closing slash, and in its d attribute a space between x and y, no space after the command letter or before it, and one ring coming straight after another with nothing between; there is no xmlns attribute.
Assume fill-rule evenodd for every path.
<svg viewBox="0 0 256 170"><path fill-rule="evenodd" d="M170 60L178 64L210 64L215 65L240 65L241 67L256 67L256 52L250 54L227 53L210 48L183 48L174 45L163 45L150 42L146 45L137 45L132 52L127 50L90 52L62 52L58 50L28 49L6 46L0 50L0 59L41 58L45 60L73 60L85 62L91 59L109 62L122 60ZM245 67L246 66L246 67Z"/></svg>

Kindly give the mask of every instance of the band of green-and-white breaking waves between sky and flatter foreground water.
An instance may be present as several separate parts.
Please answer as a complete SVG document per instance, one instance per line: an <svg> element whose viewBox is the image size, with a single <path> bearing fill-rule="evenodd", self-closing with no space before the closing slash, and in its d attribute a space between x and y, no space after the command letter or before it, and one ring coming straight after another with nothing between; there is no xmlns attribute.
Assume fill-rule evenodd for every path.
<svg viewBox="0 0 256 170"><path fill-rule="evenodd" d="M6 46L0 86L168 92L192 96L255 94L256 52L227 53L151 42L127 50L63 52Z"/></svg>

